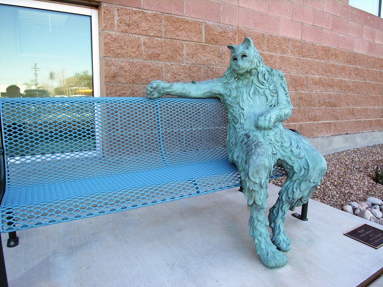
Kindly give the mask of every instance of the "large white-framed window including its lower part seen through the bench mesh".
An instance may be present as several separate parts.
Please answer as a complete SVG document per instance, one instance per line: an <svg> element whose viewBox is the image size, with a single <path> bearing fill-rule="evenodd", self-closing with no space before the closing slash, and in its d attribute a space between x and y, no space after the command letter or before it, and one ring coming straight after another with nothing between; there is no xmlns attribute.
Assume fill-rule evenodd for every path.
<svg viewBox="0 0 383 287"><path fill-rule="evenodd" d="M7 160L95 154L97 128L92 103L72 104L78 96L100 96L98 11L34 0L0 0L0 92L5 99L3 133L16 143ZM53 97L42 114L33 99ZM18 98L18 99L17 99ZM50 144L42 144L50 143Z"/></svg>

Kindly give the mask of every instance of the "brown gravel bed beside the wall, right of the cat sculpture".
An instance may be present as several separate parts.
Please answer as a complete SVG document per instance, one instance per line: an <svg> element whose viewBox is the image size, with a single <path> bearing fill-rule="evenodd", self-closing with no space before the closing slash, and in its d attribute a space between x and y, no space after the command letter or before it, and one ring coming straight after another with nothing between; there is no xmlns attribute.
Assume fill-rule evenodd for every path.
<svg viewBox="0 0 383 287"><path fill-rule="evenodd" d="M383 168L383 144L331 153L325 158L327 172L312 199L339 209L369 196L383 199L383 185L373 180L375 167ZM277 178L271 183L282 186L284 181Z"/></svg>

